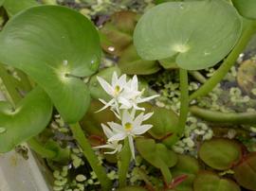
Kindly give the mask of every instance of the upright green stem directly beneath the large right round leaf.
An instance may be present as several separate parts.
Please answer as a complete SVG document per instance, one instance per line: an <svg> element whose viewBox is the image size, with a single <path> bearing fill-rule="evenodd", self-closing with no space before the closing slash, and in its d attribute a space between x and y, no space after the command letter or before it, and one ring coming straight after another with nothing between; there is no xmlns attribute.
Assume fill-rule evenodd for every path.
<svg viewBox="0 0 256 191"><path fill-rule="evenodd" d="M179 69L179 81L180 81L180 113L178 119L179 135L181 135L185 129L187 116L189 113L189 82L188 72L182 68Z"/></svg>

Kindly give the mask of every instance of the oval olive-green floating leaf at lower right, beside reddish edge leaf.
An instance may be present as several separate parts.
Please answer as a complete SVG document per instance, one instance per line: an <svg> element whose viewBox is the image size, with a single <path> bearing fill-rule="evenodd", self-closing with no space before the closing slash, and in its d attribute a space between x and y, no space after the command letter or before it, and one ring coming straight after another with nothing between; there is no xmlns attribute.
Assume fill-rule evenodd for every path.
<svg viewBox="0 0 256 191"><path fill-rule="evenodd" d="M214 169L227 170L239 163L242 149L239 144L229 139L211 139L202 144L199 157Z"/></svg>

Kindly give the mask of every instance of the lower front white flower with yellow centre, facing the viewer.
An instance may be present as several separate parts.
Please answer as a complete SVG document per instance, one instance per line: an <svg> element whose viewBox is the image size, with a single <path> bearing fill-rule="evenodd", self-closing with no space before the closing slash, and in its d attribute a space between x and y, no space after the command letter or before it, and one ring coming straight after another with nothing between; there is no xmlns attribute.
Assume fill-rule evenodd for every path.
<svg viewBox="0 0 256 191"><path fill-rule="evenodd" d="M133 138L137 135L145 133L147 130L150 130L153 126L152 125L141 125L141 123L152 116L153 113L140 113L134 119L128 111L124 111L122 115L121 125L115 122L108 122L109 127L112 130L115 130L117 133L111 136L108 141L120 141L124 140L128 137L129 146L132 152L132 156L135 159L135 148L134 148L134 140Z"/></svg>

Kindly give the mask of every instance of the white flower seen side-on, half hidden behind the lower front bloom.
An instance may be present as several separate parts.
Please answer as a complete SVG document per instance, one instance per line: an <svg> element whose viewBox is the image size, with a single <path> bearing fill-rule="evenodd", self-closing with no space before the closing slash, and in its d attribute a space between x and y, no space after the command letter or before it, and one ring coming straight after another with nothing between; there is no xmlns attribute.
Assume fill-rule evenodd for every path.
<svg viewBox="0 0 256 191"><path fill-rule="evenodd" d="M110 130L104 124L101 124L101 127L108 139L115 135L115 130ZM98 147L94 147L94 148L110 148L110 149L113 149L113 151L104 152L104 154L115 154L116 152L119 152L121 150L122 145L119 144L119 141L112 141L112 142L107 141L106 145L98 146Z"/></svg>

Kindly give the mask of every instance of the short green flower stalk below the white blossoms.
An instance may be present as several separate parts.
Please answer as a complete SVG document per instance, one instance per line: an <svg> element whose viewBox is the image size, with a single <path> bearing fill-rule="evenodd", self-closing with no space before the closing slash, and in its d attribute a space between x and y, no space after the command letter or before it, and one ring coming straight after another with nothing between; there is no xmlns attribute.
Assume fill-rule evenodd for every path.
<svg viewBox="0 0 256 191"><path fill-rule="evenodd" d="M129 165L131 161L131 150L129 147L128 138L124 140L123 148L119 153L119 187L126 186L126 177L129 170Z"/></svg>

